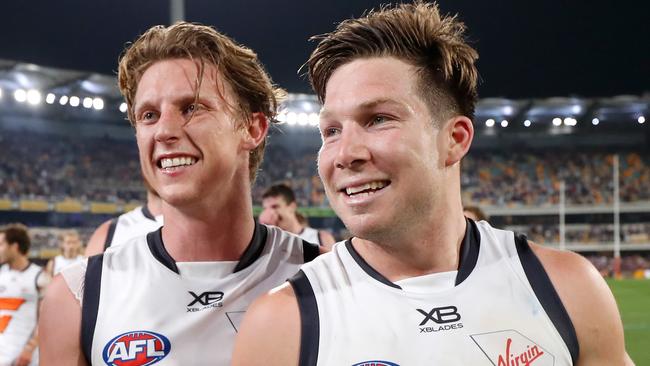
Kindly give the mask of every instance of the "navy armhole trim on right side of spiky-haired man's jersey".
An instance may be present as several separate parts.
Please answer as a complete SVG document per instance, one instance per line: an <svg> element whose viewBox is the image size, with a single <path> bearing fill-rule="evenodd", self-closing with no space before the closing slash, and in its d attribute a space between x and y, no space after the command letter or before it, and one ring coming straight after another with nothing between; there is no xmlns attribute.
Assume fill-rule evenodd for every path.
<svg viewBox="0 0 650 366"><path fill-rule="evenodd" d="M580 345L571 318L564 308L560 296L555 291L555 287L553 287L551 279L544 270L544 266L530 248L530 245L528 245L526 236L515 233L515 245L530 286L533 288L546 314L553 322L555 329L562 336L569 353L571 353L573 364L576 364L580 354Z"/></svg>

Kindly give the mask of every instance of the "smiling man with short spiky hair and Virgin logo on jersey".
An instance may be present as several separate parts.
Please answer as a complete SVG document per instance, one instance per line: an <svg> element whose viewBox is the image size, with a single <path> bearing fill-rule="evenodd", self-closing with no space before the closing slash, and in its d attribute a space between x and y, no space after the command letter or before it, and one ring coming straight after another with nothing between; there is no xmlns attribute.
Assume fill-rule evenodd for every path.
<svg viewBox="0 0 650 366"><path fill-rule="evenodd" d="M463 215L478 75L464 30L416 1L320 38L318 171L353 238L251 306L234 365L631 364L585 258Z"/></svg>

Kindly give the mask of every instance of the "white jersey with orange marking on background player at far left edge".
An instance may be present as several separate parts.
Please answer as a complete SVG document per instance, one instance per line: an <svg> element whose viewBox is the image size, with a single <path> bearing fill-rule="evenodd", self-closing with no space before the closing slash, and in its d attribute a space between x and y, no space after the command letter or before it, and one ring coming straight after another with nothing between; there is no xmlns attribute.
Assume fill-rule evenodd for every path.
<svg viewBox="0 0 650 366"><path fill-rule="evenodd" d="M36 327L41 267L34 263L22 270L0 266L0 365L10 365L29 341Z"/></svg>

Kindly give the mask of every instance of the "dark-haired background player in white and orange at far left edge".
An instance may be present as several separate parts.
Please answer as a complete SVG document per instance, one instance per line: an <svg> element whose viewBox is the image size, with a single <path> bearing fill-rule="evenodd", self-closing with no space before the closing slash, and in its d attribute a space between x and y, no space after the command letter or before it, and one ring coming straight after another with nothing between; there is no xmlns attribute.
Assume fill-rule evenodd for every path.
<svg viewBox="0 0 650 366"><path fill-rule="evenodd" d="M0 228L0 366L38 364L39 296L47 285L29 261L27 227Z"/></svg>

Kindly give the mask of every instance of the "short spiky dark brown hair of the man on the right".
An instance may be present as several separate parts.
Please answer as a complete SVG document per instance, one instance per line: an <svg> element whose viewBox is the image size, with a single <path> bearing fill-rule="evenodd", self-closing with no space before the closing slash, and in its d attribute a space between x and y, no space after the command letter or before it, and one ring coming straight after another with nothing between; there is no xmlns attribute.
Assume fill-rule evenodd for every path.
<svg viewBox="0 0 650 366"><path fill-rule="evenodd" d="M478 53L464 39L465 25L455 16L441 16L436 4L384 6L359 19L341 22L320 40L307 66L318 98L332 73L360 58L395 57L417 70L418 89L432 114L474 118L478 98Z"/></svg>

